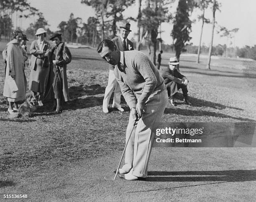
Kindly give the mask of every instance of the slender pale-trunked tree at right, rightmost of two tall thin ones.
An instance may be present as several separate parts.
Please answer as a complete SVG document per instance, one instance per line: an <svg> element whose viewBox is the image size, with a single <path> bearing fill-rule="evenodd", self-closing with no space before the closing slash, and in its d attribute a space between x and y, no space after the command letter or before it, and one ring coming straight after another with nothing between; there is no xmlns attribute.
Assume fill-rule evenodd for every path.
<svg viewBox="0 0 256 202"><path fill-rule="evenodd" d="M202 10L202 15L198 16L198 20L202 20L202 26L201 26L201 33L200 33L200 40L199 40L199 45L197 49L197 63L200 62L200 51L201 51L201 42L202 42L202 32L203 32L203 27L204 23L210 23L210 20L205 18L205 9L207 9L209 5L210 0L197 0L196 4Z"/></svg>

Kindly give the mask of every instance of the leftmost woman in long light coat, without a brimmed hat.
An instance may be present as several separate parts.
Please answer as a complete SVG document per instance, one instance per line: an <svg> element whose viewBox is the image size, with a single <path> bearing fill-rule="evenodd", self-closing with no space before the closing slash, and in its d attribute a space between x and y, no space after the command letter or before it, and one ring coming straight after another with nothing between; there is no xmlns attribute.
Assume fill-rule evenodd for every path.
<svg viewBox="0 0 256 202"><path fill-rule="evenodd" d="M9 107L8 112L11 114L18 110L18 101L26 99L27 80L24 73L24 63L26 57L23 56L23 48L20 41L23 38L20 30L12 33L13 40L7 44L7 58L5 71L5 84L3 96L7 97Z"/></svg>

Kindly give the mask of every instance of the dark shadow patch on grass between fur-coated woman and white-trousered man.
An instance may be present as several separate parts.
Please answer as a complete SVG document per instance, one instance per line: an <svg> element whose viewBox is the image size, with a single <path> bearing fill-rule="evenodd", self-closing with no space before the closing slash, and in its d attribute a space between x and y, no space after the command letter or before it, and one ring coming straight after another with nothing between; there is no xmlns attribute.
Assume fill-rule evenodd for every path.
<svg viewBox="0 0 256 202"><path fill-rule="evenodd" d="M87 86L72 86L69 88L69 96L72 99L79 98L81 96L90 96L105 93L105 87L100 86L99 84Z"/></svg>

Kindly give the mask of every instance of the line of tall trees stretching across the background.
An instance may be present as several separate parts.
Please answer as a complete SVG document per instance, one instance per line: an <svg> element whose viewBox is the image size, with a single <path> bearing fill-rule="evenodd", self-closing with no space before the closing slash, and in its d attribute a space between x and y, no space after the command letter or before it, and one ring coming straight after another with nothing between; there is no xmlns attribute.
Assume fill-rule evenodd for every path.
<svg viewBox="0 0 256 202"><path fill-rule="evenodd" d="M178 1L176 11L174 10L174 3ZM170 23L173 25L170 33L170 40L174 49L175 55L179 60L182 52L187 51L191 37L189 34L192 31L191 16L195 10L200 10L201 15L198 20L202 22L201 34L199 38L199 46L197 47L197 63L200 62L201 39L205 23L212 24L212 35L210 36L211 43L208 48L208 62L207 67L210 69L210 58L212 54L216 53L212 48L214 32L216 29L216 11L220 11L221 5L217 0L81 0L82 4L90 6L95 11L95 16L88 18L87 23L83 23L81 18L75 18L73 13L70 14L68 21L59 23L58 31L62 33L63 38L71 43L84 43L92 45L93 47L105 38L113 38L117 35L118 23L121 22L136 22L136 38L132 39L135 43L136 49L141 47L148 49L151 60L156 63L156 51L161 50L165 45L162 44L161 38L161 23ZM131 6L136 5L138 15L136 18L123 16L123 11ZM18 18L27 18L30 15L37 15L38 20L31 23L26 30L27 35L33 36L34 32L43 27L48 34L49 24L45 20L43 13L40 13L36 8L30 6L27 0L0 0L0 35L5 38L10 36L13 28L13 16ZM211 10L212 18L205 18L205 10ZM16 22L17 25L17 22ZM227 40L234 37L238 28L228 30L228 28L218 26L218 33L226 37ZM168 41L170 43L170 41ZM166 47L166 46L165 46ZM224 47L225 53L228 53L228 47ZM223 49L223 47L217 47ZM240 54L245 55L245 54ZM227 56L227 55L226 55Z"/></svg>

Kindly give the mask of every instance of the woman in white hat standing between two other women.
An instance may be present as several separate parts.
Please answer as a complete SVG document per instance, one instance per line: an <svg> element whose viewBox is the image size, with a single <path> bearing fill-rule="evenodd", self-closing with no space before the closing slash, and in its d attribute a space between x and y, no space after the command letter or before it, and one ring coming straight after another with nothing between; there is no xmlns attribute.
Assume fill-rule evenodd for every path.
<svg viewBox="0 0 256 202"><path fill-rule="evenodd" d="M39 28L36 31L37 40L34 40L30 46L31 53L31 72L29 77L29 90L33 91L33 96L38 97L38 105L43 106L43 94L46 87L46 79L49 75L49 61L47 54L50 43L45 40L46 30Z"/></svg>

